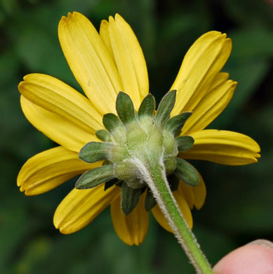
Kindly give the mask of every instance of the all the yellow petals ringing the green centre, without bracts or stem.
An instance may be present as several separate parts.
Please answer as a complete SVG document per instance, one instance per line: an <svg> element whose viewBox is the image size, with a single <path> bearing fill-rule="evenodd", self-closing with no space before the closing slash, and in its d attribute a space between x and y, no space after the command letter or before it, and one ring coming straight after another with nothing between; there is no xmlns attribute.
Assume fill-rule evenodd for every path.
<svg viewBox="0 0 273 274"><path fill-rule="evenodd" d="M29 74L19 84L22 111L36 129L60 146L30 158L20 170L18 186L25 195L38 195L102 162L88 164L79 159L79 150L91 141L100 141L95 131L103 129L102 116L116 113L119 91L132 98L138 110L149 93L144 56L131 27L116 15L102 20L100 34L91 22L74 12L60 20L58 35L62 51L74 77L87 97L62 81L45 74ZM231 100L237 83L220 72L229 58L232 43L220 32L208 32L187 52L171 89L177 90L171 116L192 111L182 135L194 138L193 147L180 152L185 159L204 159L229 165L257 162L260 148L240 133L207 129ZM192 228L194 206L200 209L206 197L201 176L196 187L180 182L174 191L182 214ZM114 229L126 244L140 244L147 234L149 213L142 194L128 216L121 211L121 188L73 189L60 203L53 219L61 233L74 233L91 223L109 204ZM157 221L171 231L158 206L152 209Z"/></svg>

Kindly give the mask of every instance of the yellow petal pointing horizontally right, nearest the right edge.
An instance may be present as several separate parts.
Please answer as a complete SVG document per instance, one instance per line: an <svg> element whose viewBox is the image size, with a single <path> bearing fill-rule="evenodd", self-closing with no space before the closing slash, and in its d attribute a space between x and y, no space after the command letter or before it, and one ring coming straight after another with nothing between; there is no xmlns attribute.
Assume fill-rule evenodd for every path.
<svg viewBox="0 0 273 274"><path fill-rule="evenodd" d="M191 133L193 147L180 152L185 159L203 159L219 164L242 165L257 162L260 147L252 138L233 131L206 129Z"/></svg>

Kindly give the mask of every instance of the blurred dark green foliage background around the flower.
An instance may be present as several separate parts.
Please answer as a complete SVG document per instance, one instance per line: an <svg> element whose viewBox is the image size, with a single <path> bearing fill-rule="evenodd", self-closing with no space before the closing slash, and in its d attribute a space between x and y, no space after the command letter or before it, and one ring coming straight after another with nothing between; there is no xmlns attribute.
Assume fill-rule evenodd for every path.
<svg viewBox="0 0 273 274"><path fill-rule="evenodd" d="M74 180L49 193L25 197L16 186L22 164L53 147L27 122L17 85L25 74L51 74L80 90L58 42L58 22L79 11L99 27L120 13L145 53L150 89L168 91L189 46L204 32L226 32L233 41L224 71L239 85L211 128L253 137L258 164L227 167L194 162L208 195L193 211L194 233L211 263L257 238L273 240L273 11L260 0L122 1L0 0L0 273L194 273L177 241L150 218L147 239L129 247L114 233L109 209L83 230L61 235L53 227L58 203Z"/></svg>

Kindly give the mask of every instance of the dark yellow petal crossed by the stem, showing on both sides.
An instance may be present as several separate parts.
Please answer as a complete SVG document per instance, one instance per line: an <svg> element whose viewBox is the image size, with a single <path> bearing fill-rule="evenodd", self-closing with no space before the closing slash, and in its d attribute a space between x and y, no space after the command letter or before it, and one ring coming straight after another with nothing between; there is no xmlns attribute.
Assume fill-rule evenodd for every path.
<svg viewBox="0 0 273 274"><path fill-rule="evenodd" d="M175 200L178 203L178 207L180 208L181 213L183 214L185 220L187 221L189 228L192 229L192 225L193 225L192 212L189 209L189 205L187 204L187 201L185 200L183 193L174 191L173 196L175 197ZM164 214L162 213L158 204L152 209L152 214L154 215L154 218L156 218L160 226L162 226L164 229L168 230L169 232L173 233L171 226L168 224L168 221L165 218Z"/></svg>

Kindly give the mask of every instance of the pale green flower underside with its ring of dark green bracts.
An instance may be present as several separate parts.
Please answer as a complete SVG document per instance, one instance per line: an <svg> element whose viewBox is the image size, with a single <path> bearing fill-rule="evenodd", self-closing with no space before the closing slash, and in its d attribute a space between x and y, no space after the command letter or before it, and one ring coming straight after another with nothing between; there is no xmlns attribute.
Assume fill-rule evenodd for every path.
<svg viewBox="0 0 273 274"><path fill-rule="evenodd" d="M116 112L102 118L105 129L95 135L102 142L90 142L79 152L84 162L105 160L101 167L86 171L76 182L77 189L94 188L105 183L105 190L112 185L121 187L121 208L125 215L133 211L146 192L145 209L149 211L156 200L149 190L143 174L143 165L150 159L163 163L172 191L178 189L180 180L188 185L198 185L199 176L191 164L178 157L178 153L192 148L192 136L180 136L182 127L192 112L183 112L170 118L175 105L176 91L169 91L162 98L157 112L155 100L148 94L136 112L133 101L124 92L116 98Z"/></svg>

